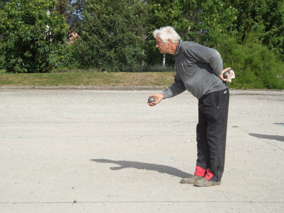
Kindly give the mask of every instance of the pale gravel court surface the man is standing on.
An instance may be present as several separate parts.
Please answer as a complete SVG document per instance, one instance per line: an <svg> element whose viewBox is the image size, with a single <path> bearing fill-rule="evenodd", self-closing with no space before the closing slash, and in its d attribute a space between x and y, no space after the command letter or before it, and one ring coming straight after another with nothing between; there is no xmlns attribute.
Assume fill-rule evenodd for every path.
<svg viewBox="0 0 284 213"><path fill-rule="evenodd" d="M196 163L198 100L159 89L1 88L0 212L283 212L284 91L230 90L220 186Z"/></svg>

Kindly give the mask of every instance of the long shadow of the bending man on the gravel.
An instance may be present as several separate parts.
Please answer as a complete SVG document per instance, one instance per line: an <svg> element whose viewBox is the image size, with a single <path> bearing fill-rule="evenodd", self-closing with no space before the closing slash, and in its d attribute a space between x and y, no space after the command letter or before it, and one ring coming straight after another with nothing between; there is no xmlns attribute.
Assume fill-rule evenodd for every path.
<svg viewBox="0 0 284 213"><path fill-rule="evenodd" d="M112 163L118 164L119 167L110 167L111 170L121 170L125 168L135 168L135 169L144 169L144 170L152 170L160 173L166 173L169 175L173 175L179 178L190 178L193 175L178 170L174 167L158 165L158 164L149 164L149 163L141 163L135 161L114 161L109 159L91 159L91 161L95 161L98 163Z"/></svg>

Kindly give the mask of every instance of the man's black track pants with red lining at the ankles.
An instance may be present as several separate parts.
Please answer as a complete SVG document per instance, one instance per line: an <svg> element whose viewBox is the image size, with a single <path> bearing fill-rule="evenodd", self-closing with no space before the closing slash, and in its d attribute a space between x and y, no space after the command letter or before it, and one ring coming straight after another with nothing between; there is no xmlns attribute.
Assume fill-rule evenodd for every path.
<svg viewBox="0 0 284 213"><path fill-rule="evenodd" d="M196 127L197 161L194 175L221 181L229 108L229 89L209 93L199 99Z"/></svg>

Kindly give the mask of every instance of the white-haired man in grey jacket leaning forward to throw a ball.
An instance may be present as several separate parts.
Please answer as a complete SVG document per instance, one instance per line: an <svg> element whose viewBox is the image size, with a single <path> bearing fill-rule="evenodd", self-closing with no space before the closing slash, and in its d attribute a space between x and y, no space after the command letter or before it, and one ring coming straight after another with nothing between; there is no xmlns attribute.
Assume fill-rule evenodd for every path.
<svg viewBox="0 0 284 213"><path fill-rule="evenodd" d="M153 32L156 48L161 53L175 55L177 74L172 85L161 93L151 94L156 106L165 98L185 90L198 99L196 127L197 161L194 175L180 183L195 186L220 185L225 164L225 147L229 107L229 90L224 81L223 60L215 49L192 41L182 41L172 27Z"/></svg>

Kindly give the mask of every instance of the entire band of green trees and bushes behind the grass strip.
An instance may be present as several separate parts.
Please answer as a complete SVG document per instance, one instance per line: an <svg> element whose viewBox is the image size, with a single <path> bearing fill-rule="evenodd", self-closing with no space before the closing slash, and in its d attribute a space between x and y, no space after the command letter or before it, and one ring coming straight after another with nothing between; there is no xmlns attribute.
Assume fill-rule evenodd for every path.
<svg viewBox="0 0 284 213"><path fill-rule="evenodd" d="M230 87L283 89L283 14L278 0L0 0L0 68L172 71L173 55L161 67L152 36L170 25L184 41L217 47L236 72ZM79 33L69 46L65 22Z"/></svg>

